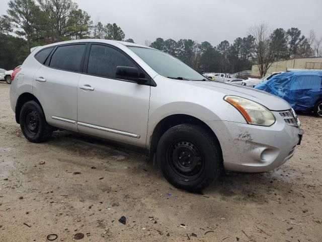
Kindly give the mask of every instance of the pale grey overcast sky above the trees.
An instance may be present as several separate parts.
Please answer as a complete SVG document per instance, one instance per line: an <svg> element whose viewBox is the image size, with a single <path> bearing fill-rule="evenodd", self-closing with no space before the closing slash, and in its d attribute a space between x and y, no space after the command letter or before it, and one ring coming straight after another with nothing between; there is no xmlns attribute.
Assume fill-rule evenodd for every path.
<svg viewBox="0 0 322 242"><path fill-rule="evenodd" d="M0 0L5 14L9 0ZM244 37L252 24L297 27L322 37L322 0L74 0L94 22L116 23L126 38L144 44L157 37L190 38L217 45Z"/></svg>

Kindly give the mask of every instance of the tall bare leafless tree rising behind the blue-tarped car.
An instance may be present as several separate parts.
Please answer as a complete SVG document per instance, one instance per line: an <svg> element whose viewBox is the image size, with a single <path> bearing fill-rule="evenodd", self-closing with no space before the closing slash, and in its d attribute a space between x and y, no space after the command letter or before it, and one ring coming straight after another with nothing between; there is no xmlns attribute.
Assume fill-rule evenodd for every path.
<svg viewBox="0 0 322 242"><path fill-rule="evenodd" d="M274 61L274 46L271 41L271 33L265 23L253 25L249 33L255 38L255 59L261 77L265 76L267 70Z"/></svg>

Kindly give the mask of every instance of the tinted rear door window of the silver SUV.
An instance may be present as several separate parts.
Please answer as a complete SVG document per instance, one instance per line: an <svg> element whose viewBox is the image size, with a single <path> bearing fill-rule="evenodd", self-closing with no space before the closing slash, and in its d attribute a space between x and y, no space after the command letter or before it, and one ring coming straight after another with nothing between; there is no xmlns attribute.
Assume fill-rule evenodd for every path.
<svg viewBox="0 0 322 242"><path fill-rule="evenodd" d="M80 72L86 44L59 46L51 56L49 67Z"/></svg>

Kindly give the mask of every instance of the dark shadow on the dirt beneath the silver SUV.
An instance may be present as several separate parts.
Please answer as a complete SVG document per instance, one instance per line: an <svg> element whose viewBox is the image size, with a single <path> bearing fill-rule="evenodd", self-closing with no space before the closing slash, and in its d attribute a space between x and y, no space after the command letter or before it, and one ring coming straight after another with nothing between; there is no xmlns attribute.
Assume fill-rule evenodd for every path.
<svg viewBox="0 0 322 242"><path fill-rule="evenodd" d="M127 164L141 167L140 169L134 170L135 173L144 172L144 169L148 169L150 171L151 178L153 178L153 176L155 179L160 178L160 172L156 165L148 158L147 152L143 149L125 146L70 131L54 132L54 135L48 141L48 144L58 149L63 149L67 153L71 152L72 154L82 157L95 156L102 160L118 155L124 155L129 158L126 160L126 162L128 162ZM145 168L142 169L142 167ZM283 196L288 194L289 191L292 191L292 186L288 179L290 176L291 173L288 172L285 174L283 168L277 168L266 173L254 174L225 171L220 175L217 181L201 193L196 194L220 197L222 200L232 198L234 200L264 203L270 199L268 198L269 196L274 194ZM263 193L262 191L266 191L266 193Z"/></svg>

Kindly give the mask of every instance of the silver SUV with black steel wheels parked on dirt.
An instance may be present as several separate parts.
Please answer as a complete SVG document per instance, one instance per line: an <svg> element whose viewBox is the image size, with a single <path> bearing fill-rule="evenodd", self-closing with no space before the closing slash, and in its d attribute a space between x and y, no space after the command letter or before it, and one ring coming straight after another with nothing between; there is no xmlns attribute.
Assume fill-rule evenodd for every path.
<svg viewBox="0 0 322 242"><path fill-rule="evenodd" d="M279 97L207 81L167 53L113 40L33 48L10 98L30 142L61 128L145 148L170 183L193 191L223 169L282 165L302 134Z"/></svg>

